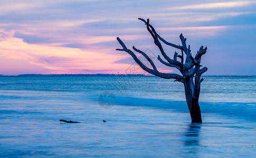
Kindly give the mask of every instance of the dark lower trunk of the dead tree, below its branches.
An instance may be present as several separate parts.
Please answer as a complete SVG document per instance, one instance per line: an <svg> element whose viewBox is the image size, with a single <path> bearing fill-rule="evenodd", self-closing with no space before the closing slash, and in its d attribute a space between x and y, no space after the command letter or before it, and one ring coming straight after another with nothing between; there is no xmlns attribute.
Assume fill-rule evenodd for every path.
<svg viewBox="0 0 256 158"><path fill-rule="evenodd" d="M198 104L198 97L195 97L195 85L193 79L189 78L184 82L186 102L193 123L202 123L201 110Z"/></svg>

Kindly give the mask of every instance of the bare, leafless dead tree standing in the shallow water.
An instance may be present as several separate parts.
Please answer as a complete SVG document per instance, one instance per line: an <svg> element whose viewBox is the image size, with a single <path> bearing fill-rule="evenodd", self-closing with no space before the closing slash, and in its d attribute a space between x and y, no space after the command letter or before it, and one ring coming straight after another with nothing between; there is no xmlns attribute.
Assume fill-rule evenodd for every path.
<svg viewBox="0 0 256 158"><path fill-rule="evenodd" d="M201 68L202 65L200 65L201 57L203 54L206 53L207 47L201 47L199 51L197 51L195 57L192 56L190 45L186 45L186 38L181 34L179 35L179 38L181 38L182 45L175 45L172 43L169 43L164 40L164 38L160 37L157 33L155 28L149 24L149 19L145 21L145 19L138 18L139 20L143 21L145 25L147 26L148 32L151 34L151 36L154 39L154 43L159 48L161 54L164 56L165 60L162 60L162 58L158 55L158 60L169 67L175 67L179 72L181 72L182 75L174 74L174 73L161 73L157 70L154 62L151 60L150 57L148 57L147 54L145 54L143 51L138 50L133 46L133 50L142 54L147 61L151 64L152 68L147 67L145 64L143 64L138 57L129 50L124 42L120 40L119 37L117 37L117 41L122 46L122 49L116 49L117 51L125 51L128 54L134 58L134 61L146 72L153 74L158 77L162 78L173 78L175 81L182 82L184 84L185 88L185 96L186 96L186 102L187 106L191 115L191 119L193 123L202 123L202 117L201 117L201 111L200 106L198 104L199 94L200 94L200 84L203 81L203 78L201 78L201 75L207 71L207 67ZM174 53L173 59L171 59L169 56L166 55L162 44L160 41L162 41L164 44L172 46L174 48L177 48L181 51L181 55L179 55L177 52ZM179 58L179 60L178 60ZM195 77L195 78L194 78ZM194 80L193 80L194 78Z"/></svg>

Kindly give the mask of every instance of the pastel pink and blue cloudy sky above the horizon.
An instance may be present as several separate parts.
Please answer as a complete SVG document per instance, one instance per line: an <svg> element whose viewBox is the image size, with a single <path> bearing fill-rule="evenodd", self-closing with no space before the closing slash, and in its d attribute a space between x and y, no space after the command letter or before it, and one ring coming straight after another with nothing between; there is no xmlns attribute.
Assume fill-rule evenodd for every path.
<svg viewBox="0 0 256 158"><path fill-rule="evenodd" d="M138 17L149 18L168 42L181 45L182 33L192 55L207 46L205 75L256 75L256 1L212 0L2 0L0 74L132 73L136 64L115 51L116 37L149 53L159 71L177 73L157 61L159 50ZM170 57L178 51L164 48Z"/></svg>

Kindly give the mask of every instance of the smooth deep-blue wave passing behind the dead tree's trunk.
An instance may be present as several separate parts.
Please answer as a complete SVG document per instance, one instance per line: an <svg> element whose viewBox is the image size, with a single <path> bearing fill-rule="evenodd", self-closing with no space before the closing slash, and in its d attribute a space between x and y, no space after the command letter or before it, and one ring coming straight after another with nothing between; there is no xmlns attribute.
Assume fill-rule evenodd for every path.
<svg viewBox="0 0 256 158"><path fill-rule="evenodd" d="M185 101L117 96L116 104L125 106L146 106L175 112L189 112ZM200 102L199 104L202 114L218 113L235 118L256 121L256 103Z"/></svg>

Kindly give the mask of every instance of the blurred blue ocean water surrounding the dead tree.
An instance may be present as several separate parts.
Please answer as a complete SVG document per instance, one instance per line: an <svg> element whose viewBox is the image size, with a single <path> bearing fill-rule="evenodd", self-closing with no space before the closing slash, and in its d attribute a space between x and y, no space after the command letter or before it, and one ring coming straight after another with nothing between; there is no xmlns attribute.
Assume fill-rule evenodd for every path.
<svg viewBox="0 0 256 158"><path fill-rule="evenodd" d="M192 124L173 80L0 76L0 157L255 157L256 76L204 79Z"/></svg>

